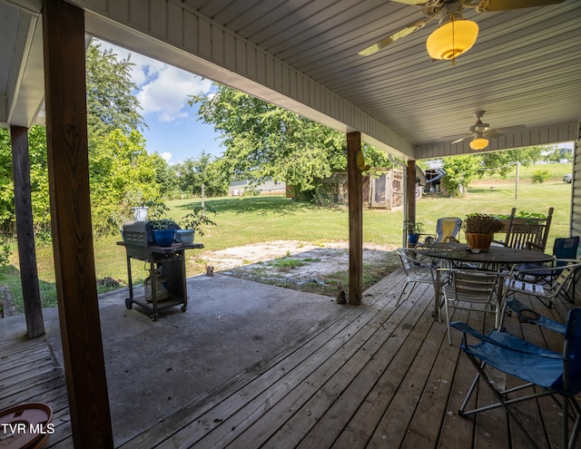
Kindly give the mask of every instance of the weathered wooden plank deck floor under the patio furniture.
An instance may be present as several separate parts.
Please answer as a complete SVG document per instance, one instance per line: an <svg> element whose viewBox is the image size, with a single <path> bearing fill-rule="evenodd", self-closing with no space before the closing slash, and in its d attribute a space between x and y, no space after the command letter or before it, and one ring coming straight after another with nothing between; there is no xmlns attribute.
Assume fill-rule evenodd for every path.
<svg viewBox="0 0 581 449"><path fill-rule="evenodd" d="M446 324L432 317L431 287L419 286L395 307L402 279L399 271L384 278L366 292L362 306L341 308L261 363L202 400L153 423L121 447L529 447L502 409L458 416L474 368L460 355L459 333L453 331L454 345L449 346ZM566 314L565 304L558 308ZM547 315L553 312L537 309ZM458 310L454 319L488 330L494 318ZM560 337L520 325L516 317L509 317L506 324L512 332L560 350ZM64 424L57 426L48 446L70 447L63 377L41 343L12 343L13 351L27 347L25 351L31 354L44 355L45 359L31 356L39 368L21 364L20 356L11 361L3 357L2 366L17 370L11 378L44 366L54 380L38 381L35 393L31 381L25 381L25 387L12 387L17 392L14 398L6 395L3 386L0 408L43 397L50 405L60 404L57 415ZM28 389L31 393L25 393ZM490 401L487 387L481 386L478 404ZM518 409L539 445L553 448L560 445L558 412L547 398L523 403Z"/></svg>

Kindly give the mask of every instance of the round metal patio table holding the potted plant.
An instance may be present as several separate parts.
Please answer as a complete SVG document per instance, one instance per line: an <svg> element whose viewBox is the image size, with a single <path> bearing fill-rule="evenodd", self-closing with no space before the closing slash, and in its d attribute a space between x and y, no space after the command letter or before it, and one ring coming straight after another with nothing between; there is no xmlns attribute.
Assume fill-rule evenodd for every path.
<svg viewBox="0 0 581 449"><path fill-rule="evenodd" d="M502 266L520 263L542 264L551 261L553 256L530 249L515 249L502 246L491 246L487 251L471 251L462 243L434 243L417 247L418 255L434 260L447 260L452 266L458 263L486 266L497 270ZM439 319L440 275L436 270L434 286L434 317Z"/></svg>

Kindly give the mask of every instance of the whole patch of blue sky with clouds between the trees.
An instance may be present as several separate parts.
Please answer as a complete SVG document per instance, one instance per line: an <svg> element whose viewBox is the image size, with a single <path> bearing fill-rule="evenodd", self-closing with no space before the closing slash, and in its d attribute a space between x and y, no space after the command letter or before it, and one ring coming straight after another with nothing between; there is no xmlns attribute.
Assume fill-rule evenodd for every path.
<svg viewBox="0 0 581 449"><path fill-rule="evenodd" d="M147 151L157 151L169 163L198 158L202 151L222 154L224 148L212 125L200 122L197 105L188 104L190 95L212 92L210 80L113 44L97 40L94 44L101 44L102 49L111 48L119 59L131 55L130 62L135 64L132 81L139 89L135 95L149 127L143 130Z"/></svg>

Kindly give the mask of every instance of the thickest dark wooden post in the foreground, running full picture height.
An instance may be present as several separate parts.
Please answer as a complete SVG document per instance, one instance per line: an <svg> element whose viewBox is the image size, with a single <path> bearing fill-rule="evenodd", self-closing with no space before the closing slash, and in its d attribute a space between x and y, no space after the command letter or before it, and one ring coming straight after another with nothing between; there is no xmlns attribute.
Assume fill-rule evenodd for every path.
<svg viewBox="0 0 581 449"><path fill-rule="evenodd" d="M83 10L43 3L54 271L74 447L113 448L94 270Z"/></svg>

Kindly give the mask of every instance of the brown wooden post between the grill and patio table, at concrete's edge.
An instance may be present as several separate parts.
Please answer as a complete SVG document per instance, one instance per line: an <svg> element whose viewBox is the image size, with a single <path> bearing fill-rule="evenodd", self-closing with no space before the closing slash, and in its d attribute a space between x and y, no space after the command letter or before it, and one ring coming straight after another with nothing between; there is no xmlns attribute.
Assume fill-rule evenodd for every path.
<svg viewBox="0 0 581 449"><path fill-rule="evenodd" d="M361 133L347 134L347 175L349 181L349 303L361 304L363 297L363 182L357 166Z"/></svg>

